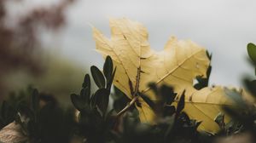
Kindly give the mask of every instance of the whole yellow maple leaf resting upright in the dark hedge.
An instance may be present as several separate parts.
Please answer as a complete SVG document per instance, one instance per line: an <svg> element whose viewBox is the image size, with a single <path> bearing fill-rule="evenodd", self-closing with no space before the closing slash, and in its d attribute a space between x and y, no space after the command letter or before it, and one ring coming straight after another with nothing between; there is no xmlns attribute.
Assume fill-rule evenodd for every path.
<svg viewBox="0 0 256 143"><path fill-rule="evenodd" d="M188 104L186 103L184 111L190 117L202 121L204 119L201 114L209 112L212 103L225 104L224 100L204 100L213 97L213 94L208 92L209 89L197 91L192 88L196 76L206 77L210 63L206 49L190 40L177 40L176 37L171 37L162 51L154 51L150 49L148 31L142 24L127 19L112 19L109 23L111 38L103 36L101 31L93 28L96 50L104 57L107 55L112 57L113 65L117 67L113 84L130 99L135 96L136 91L147 94L151 100L158 100L151 89L148 89L148 83L153 82L158 86L171 85L177 93L186 89L186 97L192 100L186 100ZM219 98L224 96L223 93L218 95ZM141 103L141 107L137 106L140 120L154 123L154 112L143 99L138 100ZM211 102L208 104L207 101ZM203 108L204 106L194 105L201 103L207 105L207 110L197 109L197 112L201 112L197 117L197 113L194 114L195 107ZM215 107L212 106L212 108ZM211 118L217 114L212 112Z"/></svg>

